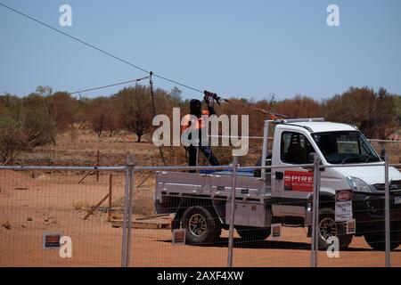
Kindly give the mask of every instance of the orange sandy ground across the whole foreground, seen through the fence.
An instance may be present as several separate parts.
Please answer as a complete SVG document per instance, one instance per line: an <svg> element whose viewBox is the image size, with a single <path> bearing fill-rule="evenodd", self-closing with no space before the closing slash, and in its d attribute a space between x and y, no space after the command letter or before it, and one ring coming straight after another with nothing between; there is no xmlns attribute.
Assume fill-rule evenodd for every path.
<svg viewBox="0 0 401 285"><path fill-rule="evenodd" d="M84 221L90 206L108 192L107 175L78 184L82 174L23 174L0 171L0 266L119 266L122 231L112 228L107 214L96 212ZM115 175L113 216L120 217L124 177ZM151 211L151 181L135 194L135 208ZM107 203L103 204L107 205ZM141 212L141 211L140 211ZM138 213L141 214L141 213ZM72 239L72 258L58 250L42 249L43 232L61 232ZM133 230L132 266L225 266L227 232L217 244L174 246L169 230ZM310 239L305 229L285 228L282 240L258 245L236 235L235 266L309 266ZM401 266L401 248L392 252L392 265ZM319 253L322 266L382 266L384 254L373 251L363 238L354 238L340 258Z"/></svg>

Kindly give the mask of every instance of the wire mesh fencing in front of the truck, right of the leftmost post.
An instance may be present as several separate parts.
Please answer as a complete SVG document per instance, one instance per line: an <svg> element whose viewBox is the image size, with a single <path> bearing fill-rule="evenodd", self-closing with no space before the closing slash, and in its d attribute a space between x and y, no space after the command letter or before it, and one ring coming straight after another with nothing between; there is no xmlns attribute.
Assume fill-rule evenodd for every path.
<svg viewBox="0 0 401 285"><path fill-rule="evenodd" d="M134 230L131 250L137 258L129 265L384 266L391 261L397 266L401 257L397 169L382 162L328 167L316 163L192 167L197 174L189 173L188 167L135 167L136 173L156 172L155 211L161 214L159 219L171 221L172 229L159 231L162 236ZM390 175L385 175L386 169ZM316 189L320 195L313 195ZM186 246L174 245L179 229ZM387 252L386 229L391 230ZM139 240L146 238L150 244L143 247Z"/></svg>

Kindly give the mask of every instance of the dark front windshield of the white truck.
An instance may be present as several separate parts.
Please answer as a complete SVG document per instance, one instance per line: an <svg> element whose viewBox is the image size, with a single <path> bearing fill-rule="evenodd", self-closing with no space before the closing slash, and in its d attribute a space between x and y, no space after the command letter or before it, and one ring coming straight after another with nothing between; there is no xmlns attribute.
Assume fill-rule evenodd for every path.
<svg viewBox="0 0 401 285"><path fill-rule="evenodd" d="M364 135L357 131L341 131L312 134L317 146L328 163L367 163L381 159L366 141Z"/></svg>

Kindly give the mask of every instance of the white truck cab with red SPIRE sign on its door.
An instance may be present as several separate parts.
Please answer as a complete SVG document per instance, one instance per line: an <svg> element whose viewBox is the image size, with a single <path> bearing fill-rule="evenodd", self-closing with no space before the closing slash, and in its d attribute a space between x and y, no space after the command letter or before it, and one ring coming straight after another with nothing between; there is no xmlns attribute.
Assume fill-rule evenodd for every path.
<svg viewBox="0 0 401 285"><path fill-rule="evenodd" d="M332 232L340 231L343 237L340 242L347 246L352 236L347 234L345 224L339 222L355 218L355 235L364 235L372 248L383 249L384 162L364 134L356 126L324 122L321 118L272 123L274 143L269 163L274 167L290 167L272 168L266 177L271 181L273 215L281 216L284 221L291 217L292 221L310 224L314 175L310 168L299 165L313 163L313 154L317 154L322 165L319 208L320 215L326 217L325 223L331 225ZM397 248L401 240L398 222L401 220L401 174L394 167L389 167L389 181L394 230L391 248ZM336 193L342 190L352 190L352 213L339 221L335 201ZM329 232L322 234L329 237ZM325 240L320 241L323 244Z"/></svg>

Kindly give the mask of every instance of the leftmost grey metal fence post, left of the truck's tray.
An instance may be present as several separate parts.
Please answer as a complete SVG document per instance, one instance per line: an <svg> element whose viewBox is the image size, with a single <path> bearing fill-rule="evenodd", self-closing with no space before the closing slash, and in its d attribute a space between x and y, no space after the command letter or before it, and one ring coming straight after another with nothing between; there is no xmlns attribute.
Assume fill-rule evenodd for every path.
<svg viewBox="0 0 401 285"><path fill-rule="evenodd" d="M132 189L131 176L132 176L132 166L134 163L134 158L132 155L127 156L127 168L126 168L126 185L125 185L125 193L124 193L124 214L123 214L123 237L122 237L122 247L121 247L121 267L127 267L127 226L131 227L131 224L128 224L128 211L130 209L130 192Z"/></svg>

